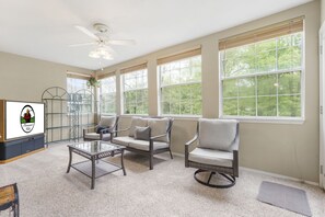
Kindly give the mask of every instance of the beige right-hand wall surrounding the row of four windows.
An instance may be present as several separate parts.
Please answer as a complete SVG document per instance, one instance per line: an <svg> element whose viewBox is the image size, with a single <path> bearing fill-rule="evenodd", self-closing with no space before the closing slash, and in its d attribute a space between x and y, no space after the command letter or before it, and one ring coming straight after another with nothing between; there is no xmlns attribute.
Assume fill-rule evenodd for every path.
<svg viewBox="0 0 325 217"><path fill-rule="evenodd" d="M218 41L272 23L305 15L305 122L270 124L242 122L240 165L318 182L318 55L320 1L290 9L244 25L169 47L104 69L104 73L148 61L149 115L158 115L156 59L201 45L202 116L219 117ZM222 21L221 21L222 22ZM102 73L98 71L98 73ZM120 93L118 93L120 94ZM129 118L123 118L129 122ZM195 118L176 118L172 149L184 153L184 144L196 130Z"/></svg>

